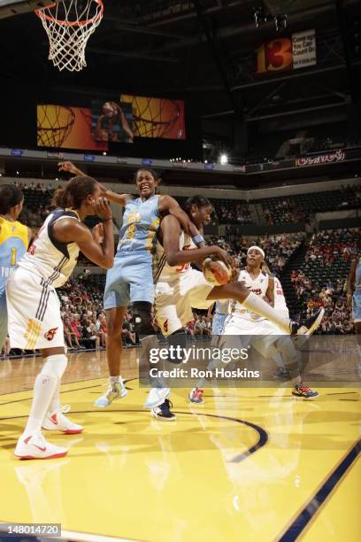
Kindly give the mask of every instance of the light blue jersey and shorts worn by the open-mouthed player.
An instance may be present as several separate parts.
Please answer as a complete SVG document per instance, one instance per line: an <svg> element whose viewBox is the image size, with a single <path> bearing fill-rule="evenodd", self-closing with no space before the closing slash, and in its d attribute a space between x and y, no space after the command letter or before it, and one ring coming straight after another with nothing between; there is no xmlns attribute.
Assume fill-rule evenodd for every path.
<svg viewBox="0 0 361 542"><path fill-rule="evenodd" d="M104 309L154 302L153 259L159 228L158 196L131 199L124 210L114 266L107 271Z"/></svg>

